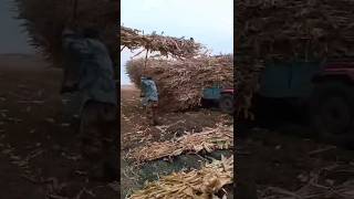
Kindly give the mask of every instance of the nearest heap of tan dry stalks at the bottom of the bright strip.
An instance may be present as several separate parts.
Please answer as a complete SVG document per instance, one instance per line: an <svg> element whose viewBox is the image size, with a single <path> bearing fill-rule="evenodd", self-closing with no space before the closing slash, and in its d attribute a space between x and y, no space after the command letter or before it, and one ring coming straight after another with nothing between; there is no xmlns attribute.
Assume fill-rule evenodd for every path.
<svg viewBox="0 0 354 199"><path fill-rule="evenodd" d="M158 181L148 184L143 190L134 192L129 199L149 198L183 198L209 199L223 198L217 193L222 187L233 181L233 156L214 160L200 170L177 172L162 177Z"/></svg>

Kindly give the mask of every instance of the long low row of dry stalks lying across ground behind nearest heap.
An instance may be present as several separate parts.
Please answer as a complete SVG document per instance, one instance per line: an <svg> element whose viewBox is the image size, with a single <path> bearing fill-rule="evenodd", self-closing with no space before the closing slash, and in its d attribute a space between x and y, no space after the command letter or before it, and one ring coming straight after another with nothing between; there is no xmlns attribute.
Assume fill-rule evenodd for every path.
<svg viewBox="0 0 354 199"><path fill-rule="evenodd" d="M211 153L216 149L230 149L233 147L233 127L219 126L205 129L201 133L188 134L176 140L152 143L144 147L134 148L127 154L136 163L155 160L164 157L178 156L183 153Z"/></svg>

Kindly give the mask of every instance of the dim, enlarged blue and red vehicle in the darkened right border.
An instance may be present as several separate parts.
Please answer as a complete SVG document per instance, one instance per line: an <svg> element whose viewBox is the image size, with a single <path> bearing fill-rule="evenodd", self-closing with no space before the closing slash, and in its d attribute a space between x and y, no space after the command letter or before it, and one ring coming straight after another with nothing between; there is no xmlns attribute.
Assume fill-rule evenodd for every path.
<svg viewBox="0 0 354 199"><path fill-rule="evenodd" d="M287 102L320 137L354 143L354 59L269 63L257 94L258 102ZM273 105L262 105L266 117L274 114Z"/></svg>

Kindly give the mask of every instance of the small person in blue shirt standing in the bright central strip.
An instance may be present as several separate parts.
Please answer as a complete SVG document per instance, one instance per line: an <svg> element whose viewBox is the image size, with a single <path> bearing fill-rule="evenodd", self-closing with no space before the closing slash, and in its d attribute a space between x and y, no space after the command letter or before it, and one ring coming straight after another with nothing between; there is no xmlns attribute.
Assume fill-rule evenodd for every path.
<svg viewBox="0 0 354 199"><path fill-rule="evenodd" d="M146 115L153 126L158 125L157 107L158 107L158 92L154 80L150 76L142 77L142 93L143 106L146 109Z"/></svg>

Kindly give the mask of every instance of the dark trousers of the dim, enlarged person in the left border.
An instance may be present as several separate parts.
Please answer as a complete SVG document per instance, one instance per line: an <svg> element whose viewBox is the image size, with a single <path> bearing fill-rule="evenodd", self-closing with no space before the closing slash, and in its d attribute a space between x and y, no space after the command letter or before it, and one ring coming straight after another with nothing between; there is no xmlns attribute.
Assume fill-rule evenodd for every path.
<svg viewBox="0 0 354 199"><path fill-rule="evenodd" d="M93 167L110 167L118 171L117 107L107 103L87 102L81 124L82 156Z"/></svg>

